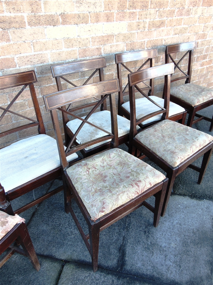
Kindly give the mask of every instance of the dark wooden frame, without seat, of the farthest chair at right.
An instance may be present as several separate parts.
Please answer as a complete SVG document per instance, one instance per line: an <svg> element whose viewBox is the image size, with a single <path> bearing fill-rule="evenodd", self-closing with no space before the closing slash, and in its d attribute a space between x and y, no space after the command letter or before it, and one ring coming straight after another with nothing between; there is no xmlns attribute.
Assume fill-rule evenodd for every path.
<svg viewBox="0 0 213 285"><path fill-rule="evenodd" d="M193 64L193 52L195 49L195 42L186 42L183 44L174 44L171 46L166 46L166 50L165 50L165 63L169 63L169 60L171 59L172 62L175 64L175 69L178 68L183 74L184 76L172 79L171 82L177 81L177 80L182 80L185 79L185 84L190 83L191 82L191 73L192 73L192 64ZM186 51L186 53L182 56L182 58L178 61L178 63L175 62L175 60L172 58L173 53L177 53L177 52L182 52L182 51ZM185 58L185 56L187 56L187 54L189 54L189 61L188 61L188 70L187 73L184 72L180 66L179 63L183 60L183 58ZM213 130L213 116L212 118L208 118L205 116L202 116L200 114L198 114L197 112L213 105L213 99L208 100L204 103L201 103L199 105L196 106L192 106L189 103L173 96L170 94L170 101L180 105L181 107L185 108L187 110L187 113L189 113L189 117L187 120L187 126L191 127L193 124L201 121L202 119L210 122L210 128L209 131L211 132ZM198 117L198 119L194 120L194 117Z"/></svg>

